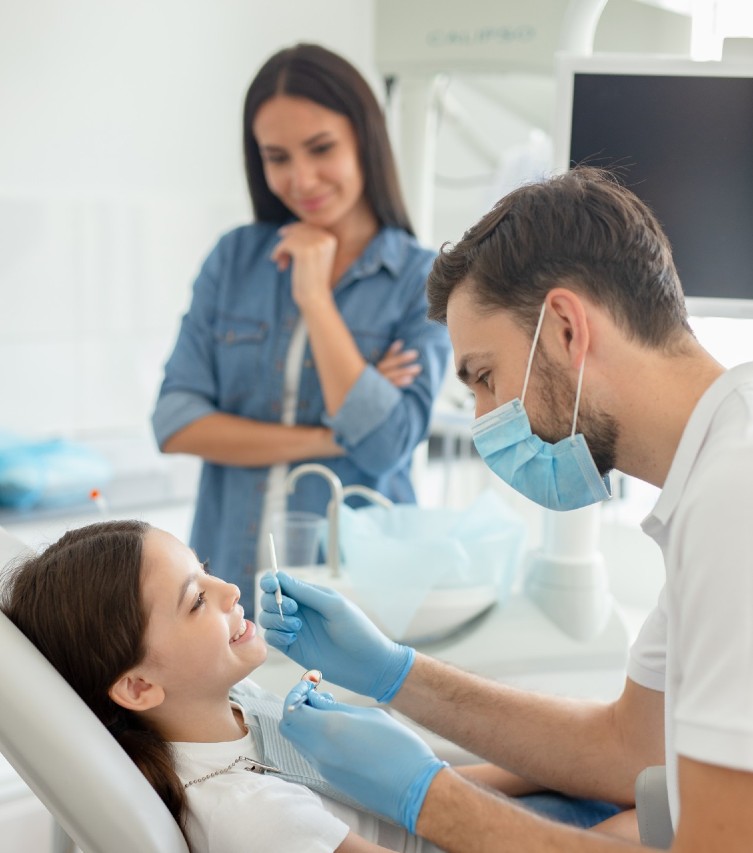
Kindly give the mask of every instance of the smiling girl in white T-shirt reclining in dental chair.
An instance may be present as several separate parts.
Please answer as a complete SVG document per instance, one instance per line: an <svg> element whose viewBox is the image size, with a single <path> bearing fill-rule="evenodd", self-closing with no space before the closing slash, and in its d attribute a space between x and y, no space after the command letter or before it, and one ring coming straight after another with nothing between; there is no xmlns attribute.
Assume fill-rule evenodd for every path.
<svg viewBox="0 0 753 853"><path fill-rule="evenodd" d="M277 731L247 678L267 656L238 588L140 521L66 533L4 575L0 606L73 686L192 851L435 848L350 804Z"/></svg>

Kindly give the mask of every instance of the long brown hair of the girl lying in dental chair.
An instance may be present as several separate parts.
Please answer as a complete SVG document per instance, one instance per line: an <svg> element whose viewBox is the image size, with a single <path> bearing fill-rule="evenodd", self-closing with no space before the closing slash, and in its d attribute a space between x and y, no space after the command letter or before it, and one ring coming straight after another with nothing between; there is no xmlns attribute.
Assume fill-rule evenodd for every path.
<svg viewBox="0 0 753 853"><path fill-rule="evenodd" d="M107 726L183 828L185 791L170 745L108 695L146 654L140 588L149 529L109 521L68 531L3 575L0 609Z"/></svg>

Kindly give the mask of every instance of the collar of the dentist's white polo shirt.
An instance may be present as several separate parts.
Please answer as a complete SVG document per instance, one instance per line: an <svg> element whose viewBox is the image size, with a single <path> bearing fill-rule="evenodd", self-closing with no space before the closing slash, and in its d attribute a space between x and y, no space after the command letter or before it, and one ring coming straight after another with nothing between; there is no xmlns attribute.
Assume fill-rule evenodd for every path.
<svg viewBox="0 0 753 853"><path fill-rule="evenodd" d="M643 532L654 540L662 538L664 528L680 503L695 461L719 406L740 385L753 382L753 362L725 371L703 394L693 409L677 445L664 488L653 510L641 522Z"/></svg>

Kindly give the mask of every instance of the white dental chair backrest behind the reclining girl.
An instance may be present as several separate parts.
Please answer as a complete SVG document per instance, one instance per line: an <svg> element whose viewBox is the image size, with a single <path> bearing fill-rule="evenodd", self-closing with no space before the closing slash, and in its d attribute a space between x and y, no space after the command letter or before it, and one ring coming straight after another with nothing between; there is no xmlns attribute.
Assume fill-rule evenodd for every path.
<svg viewBox="0 0 753 853"><path fill-rule="evenodd" d="M0 527L0 567L26 551ZM53 853L188 853L136 765L2 613L0 709L0 752L57 822Z"/></svg>

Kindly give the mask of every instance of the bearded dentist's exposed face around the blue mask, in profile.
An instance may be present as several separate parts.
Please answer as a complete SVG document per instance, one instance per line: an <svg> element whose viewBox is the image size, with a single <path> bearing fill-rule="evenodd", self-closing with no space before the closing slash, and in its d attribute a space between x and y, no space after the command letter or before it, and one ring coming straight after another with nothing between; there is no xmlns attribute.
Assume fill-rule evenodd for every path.
<svg viewBox="0 0 753 853"><path fill-rule="evenodd" d="M546 323L544 315L544 328ZM533 334L519 320L501 308L481 310L471 289L461 285L447 303L447 329L458 377L476 398L476 417L520 397ZM577 384L548 355L542 338L543 328L524 405L533 433L556 444L572 430ZM585 390L577 432L583 433L599 473L609 473L615 467L617 424L609 414L590 404Z"/></svg>

